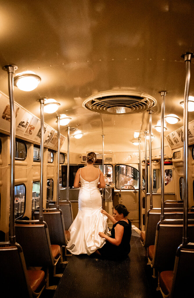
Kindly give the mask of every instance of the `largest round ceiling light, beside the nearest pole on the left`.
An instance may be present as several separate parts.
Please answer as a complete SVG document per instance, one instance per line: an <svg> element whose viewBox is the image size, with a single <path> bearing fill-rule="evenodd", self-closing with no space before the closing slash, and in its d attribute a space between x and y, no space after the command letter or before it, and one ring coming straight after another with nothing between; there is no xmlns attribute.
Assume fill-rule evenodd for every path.
<svg viewBox="0 0 194 298"><path fill-rule="evenodd" d="M41 78L34 72L26 71L17 74L14 79L14 86L17 86L22 91L34 90L41 81Z"/></svg>

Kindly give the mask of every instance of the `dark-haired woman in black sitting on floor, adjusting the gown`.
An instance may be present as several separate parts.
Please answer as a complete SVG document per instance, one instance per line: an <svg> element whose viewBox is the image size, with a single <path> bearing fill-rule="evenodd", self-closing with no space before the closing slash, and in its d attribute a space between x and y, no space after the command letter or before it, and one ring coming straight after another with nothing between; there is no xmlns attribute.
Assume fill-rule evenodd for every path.
<svg viewBox="0 0 194 298"><path fill-rule="evenodd" d="M129 214L126 207L118 204L113 209L113 216L105 210L101 213L106 215L113 223L111 236L107 236L103 232L99 232L99 236L106 239L106 243L100 249L96 250L97 254L111 260L121 260L127 257L131 250L131 222L126 216Z"/></svg>

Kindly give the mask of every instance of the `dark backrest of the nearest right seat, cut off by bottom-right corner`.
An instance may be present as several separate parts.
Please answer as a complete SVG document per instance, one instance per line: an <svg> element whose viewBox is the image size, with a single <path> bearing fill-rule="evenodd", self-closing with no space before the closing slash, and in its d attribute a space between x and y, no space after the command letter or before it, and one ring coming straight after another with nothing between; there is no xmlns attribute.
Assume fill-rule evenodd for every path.
<svg viewBox="0 0 194 298"><path fill-rule="evenodd" d="M194 277L194 243L178 250L175 259L172 291L170 298L192 297Z"/></svg>

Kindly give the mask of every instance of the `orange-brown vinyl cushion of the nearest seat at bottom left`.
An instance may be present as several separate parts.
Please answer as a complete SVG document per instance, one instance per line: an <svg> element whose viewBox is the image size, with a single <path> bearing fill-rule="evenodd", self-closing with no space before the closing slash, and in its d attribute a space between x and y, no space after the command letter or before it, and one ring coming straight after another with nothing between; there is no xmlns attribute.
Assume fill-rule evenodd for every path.
<svg viewBox="0 0 194 298"><path fill-rule="evenodd" d="M29 285L33 292L39 292L46 283L43 270L27 270Z"/></svg>

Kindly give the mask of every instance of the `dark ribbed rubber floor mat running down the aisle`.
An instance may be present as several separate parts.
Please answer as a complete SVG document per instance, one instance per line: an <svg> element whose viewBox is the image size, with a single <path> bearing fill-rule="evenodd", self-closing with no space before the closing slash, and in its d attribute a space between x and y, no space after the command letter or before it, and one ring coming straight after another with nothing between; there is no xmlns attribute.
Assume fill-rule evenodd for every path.
<svg viewBox="0 0 194 298"><path fill-rule="evenodd" d="M54 298L155 298L162 297L146 278L145 252L140 238L132 236L131 252L122 262L85 254L68 258ZM151 287L150 287L151 286Z"/></svg>

